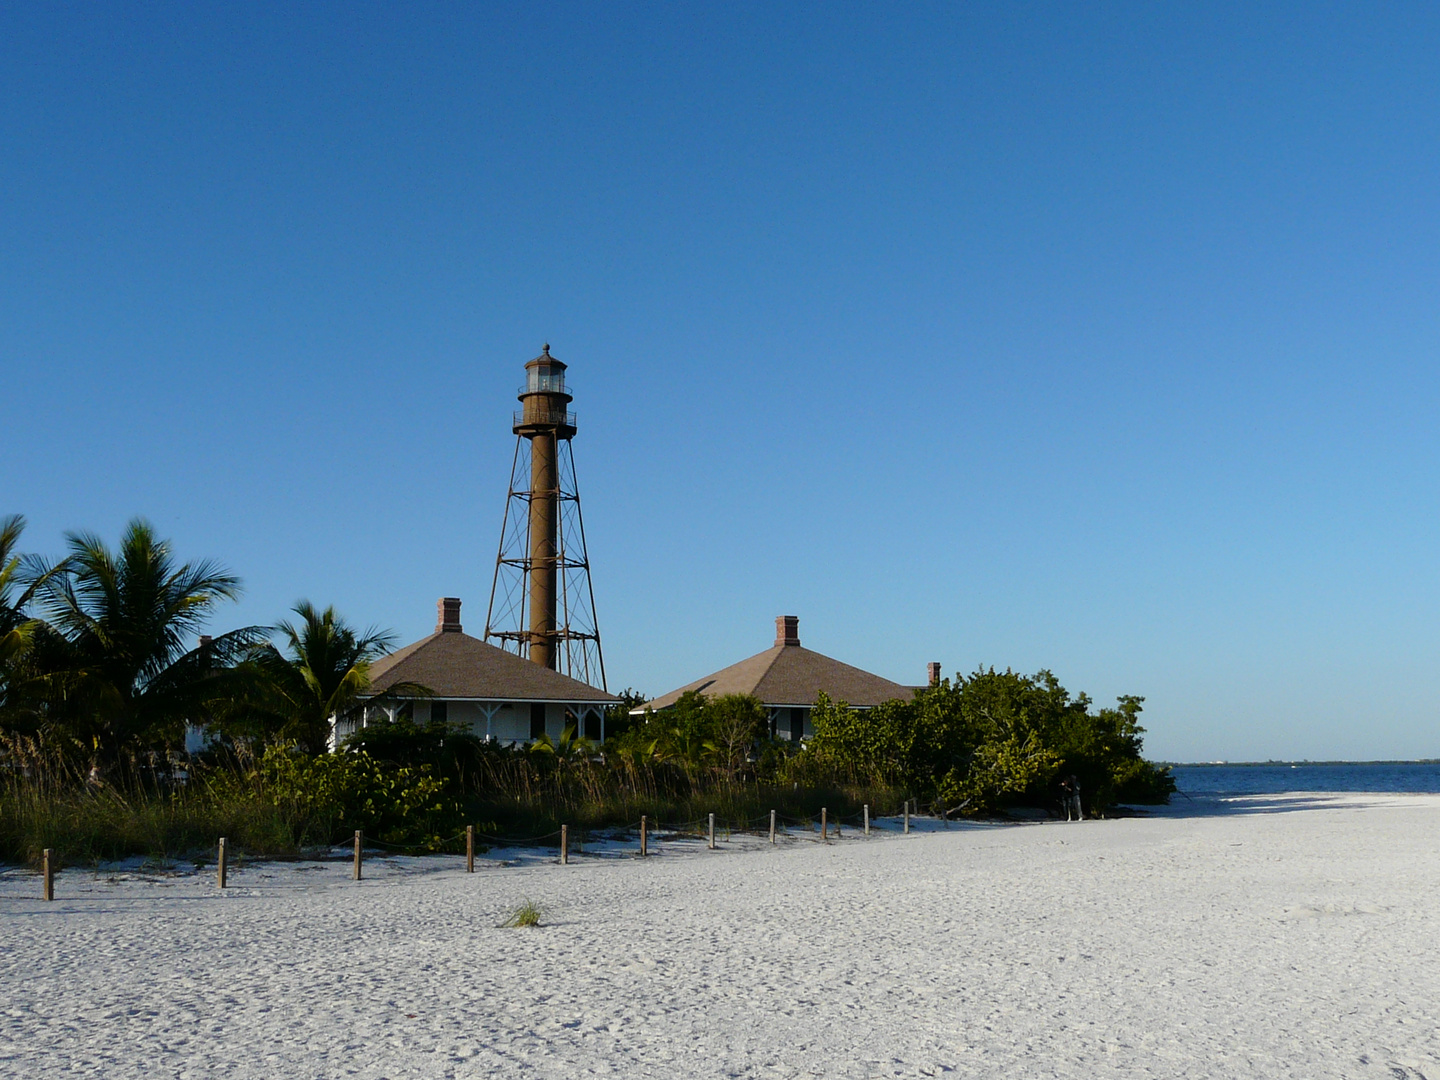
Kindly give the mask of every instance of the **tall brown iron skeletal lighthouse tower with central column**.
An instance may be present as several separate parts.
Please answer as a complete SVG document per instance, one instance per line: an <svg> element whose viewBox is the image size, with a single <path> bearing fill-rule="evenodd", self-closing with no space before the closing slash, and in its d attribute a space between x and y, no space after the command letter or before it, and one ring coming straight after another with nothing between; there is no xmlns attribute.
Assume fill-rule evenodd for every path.
<svg viewBox="0 0 1440 1080"><path fill-rule="evenodd" d="M605 685L585 518L575 482L573 399L550 346L526 364L516 459L490 588L485 641L541 667Z"/></svg>

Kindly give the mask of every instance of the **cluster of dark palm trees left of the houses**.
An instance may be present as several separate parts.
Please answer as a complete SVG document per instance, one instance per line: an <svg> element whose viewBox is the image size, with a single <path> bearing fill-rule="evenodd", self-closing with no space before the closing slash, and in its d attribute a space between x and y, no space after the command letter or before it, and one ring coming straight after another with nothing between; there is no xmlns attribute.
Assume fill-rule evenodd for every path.
<svg viewBox="0 0 1440 1080"><path fill-rule="evenodd" d="M17 550L23 528L0 518L0 730L59 739L101 765L177 750L187 724L323 753L330 717L354 707L395 639L308 600L294 622L207 635L239 579L212 560L180 563L148 521L131 521L114 550L69 533L56 563Z"/></svg>

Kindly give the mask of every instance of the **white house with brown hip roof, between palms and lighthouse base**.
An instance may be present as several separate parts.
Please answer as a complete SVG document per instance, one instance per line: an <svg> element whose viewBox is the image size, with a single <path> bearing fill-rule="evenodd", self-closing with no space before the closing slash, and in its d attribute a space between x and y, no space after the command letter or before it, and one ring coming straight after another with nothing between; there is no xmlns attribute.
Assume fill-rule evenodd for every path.
<svg viewBox="0 0 1440 1080"><path fill-rule="evenodd" d="M418 724L448 720L501 743L541 734L559 740L572 723L588 739L605 739L605 710L618 697L469 636L454 596L442 598L438 608L433 634L370 665L366 704L333 721L333 744L357 727L406 713ZM431 693L387 693L406 684Z"/></svg>

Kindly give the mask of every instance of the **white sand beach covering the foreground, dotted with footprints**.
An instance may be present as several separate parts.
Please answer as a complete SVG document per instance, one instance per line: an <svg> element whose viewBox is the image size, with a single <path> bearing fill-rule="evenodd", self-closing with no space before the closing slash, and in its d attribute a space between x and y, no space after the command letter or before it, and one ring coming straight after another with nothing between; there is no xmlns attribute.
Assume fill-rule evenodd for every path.
<svg viewBox="0 0 1440 1080"><path fill-rule="evenodd" d="M7 1077L1440 1077L1433 795L56 893L0 874Z"/></svg>

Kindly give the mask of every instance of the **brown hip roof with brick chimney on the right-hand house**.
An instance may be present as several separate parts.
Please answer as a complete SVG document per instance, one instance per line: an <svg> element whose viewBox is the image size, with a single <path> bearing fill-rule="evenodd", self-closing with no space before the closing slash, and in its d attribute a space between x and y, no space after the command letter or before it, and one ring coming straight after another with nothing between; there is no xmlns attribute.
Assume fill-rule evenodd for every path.
<svg viewBox="0 0 1440 1080"><path fill-rule="evenodd" d="M883 701L909 700L914 693L912 687L891 683L888 678L801 647L798 622L793 615L782 615L776 619L776 644L765 652L721 668L713 675L697 678L631 711L670 708L681 694L691 690L706 697L750 694L759 698L760 704L770 707L812 706L824 693L834 701L845 701L860 708L873 708Z"/></svg>

